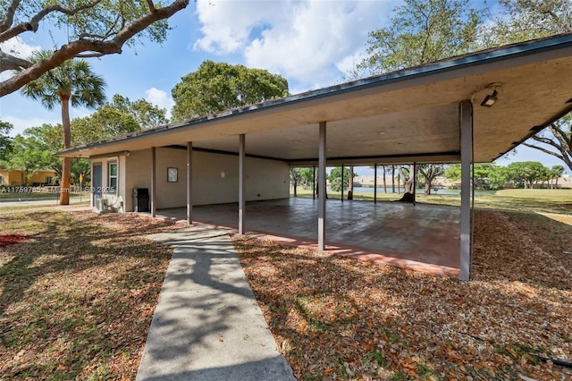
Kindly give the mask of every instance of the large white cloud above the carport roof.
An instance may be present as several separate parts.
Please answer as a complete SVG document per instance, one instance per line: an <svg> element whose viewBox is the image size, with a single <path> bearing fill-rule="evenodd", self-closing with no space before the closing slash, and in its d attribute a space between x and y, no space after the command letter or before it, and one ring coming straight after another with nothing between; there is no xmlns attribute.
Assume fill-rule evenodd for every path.
<svg viewBox="0 0 572 381"><path fill-rule="evenodd" d="M195 48L242 53L249 67L280 73L290 92L341 81L398 1L199 1Z"/></svg>

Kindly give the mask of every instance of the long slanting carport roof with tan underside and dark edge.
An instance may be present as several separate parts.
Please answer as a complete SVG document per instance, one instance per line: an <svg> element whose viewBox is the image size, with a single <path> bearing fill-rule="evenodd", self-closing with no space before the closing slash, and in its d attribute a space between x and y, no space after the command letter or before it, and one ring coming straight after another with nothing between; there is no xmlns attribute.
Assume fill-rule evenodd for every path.
<svg viewBox="0 0 572 381"><path fill-rule="evenodd" d="M497 91L492 107L481 106ZM462 55L56 154L99 157L152 147L246 152L313 165L327 123L328 164L457 162L459 103L470 100L474 161L500 157L572 109L572 33Z"/></svg>

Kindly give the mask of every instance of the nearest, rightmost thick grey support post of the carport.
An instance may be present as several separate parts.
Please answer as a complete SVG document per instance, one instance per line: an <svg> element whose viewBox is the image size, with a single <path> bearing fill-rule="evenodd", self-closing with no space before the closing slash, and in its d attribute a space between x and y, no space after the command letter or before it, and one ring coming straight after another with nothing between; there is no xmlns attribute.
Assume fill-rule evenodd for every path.
<svg viewBox="0 0 572 381"><path fill-rule="evenodd" d="M471 279L471 258L473 255L471 198L471 161L473 158L473 105L464 100L459 105L461 132L461 226L460 226L460 274L464 281Z"/></svg>

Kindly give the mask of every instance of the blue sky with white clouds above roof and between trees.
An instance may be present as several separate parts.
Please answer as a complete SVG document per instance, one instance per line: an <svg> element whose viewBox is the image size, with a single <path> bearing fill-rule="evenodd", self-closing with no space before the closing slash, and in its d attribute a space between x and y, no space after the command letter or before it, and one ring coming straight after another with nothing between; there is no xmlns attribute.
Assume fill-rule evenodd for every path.
<svg viewBox="0 0 572 381"><path fill-rule="evenodd" d="M171 90L181 77L200 63L241 63L281 74L290 93L319 89L343 81L359 61L367 33L383 26L399 0L198 0L171 19L164 44L124 47L121 55L89 59L104 77L108 98L114 94L147 101L170 110ZM475 0L475 6L483 2ZM55 36L57 38L57 36ZM52 47L46 30L24 34L9 47L21 55L34 48ZM4 45L2 47L6 49ZM2 78L2 77L0 77ZM71 118L92 110L72 109ZM42 123L61 123L60 111L48 111L16 92L0 98L0 120L13 123L12 135ZM535 160L561 165L557 159L532 148L518 148L498 161Z"/></svg>

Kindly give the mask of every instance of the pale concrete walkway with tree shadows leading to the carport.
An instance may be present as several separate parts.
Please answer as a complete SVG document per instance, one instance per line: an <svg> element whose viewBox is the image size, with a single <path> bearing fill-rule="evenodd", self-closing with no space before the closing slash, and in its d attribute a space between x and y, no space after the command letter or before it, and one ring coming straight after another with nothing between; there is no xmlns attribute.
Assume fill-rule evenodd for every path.
<svg viewBox="0 0 572 381"><path fill-rule="evenodd" d="M228 233L150 236L174 247L137 380L294 380Z"/></svg>

